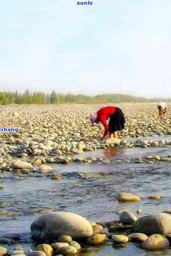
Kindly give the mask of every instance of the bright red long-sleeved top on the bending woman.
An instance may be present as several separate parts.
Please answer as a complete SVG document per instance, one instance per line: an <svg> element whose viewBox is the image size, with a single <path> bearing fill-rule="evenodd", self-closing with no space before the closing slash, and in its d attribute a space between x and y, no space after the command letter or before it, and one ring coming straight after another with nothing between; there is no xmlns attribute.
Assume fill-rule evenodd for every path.
<svg viewBox="0 0 171 256"><path fill-rule="evenodd" d="M106 137L108 133L108 124L107 120L111 115L113 115L117 111L117 107L105 107L100 110L98 110L98 122L101 122L104 125L105 131L103 137Z"/></svg>

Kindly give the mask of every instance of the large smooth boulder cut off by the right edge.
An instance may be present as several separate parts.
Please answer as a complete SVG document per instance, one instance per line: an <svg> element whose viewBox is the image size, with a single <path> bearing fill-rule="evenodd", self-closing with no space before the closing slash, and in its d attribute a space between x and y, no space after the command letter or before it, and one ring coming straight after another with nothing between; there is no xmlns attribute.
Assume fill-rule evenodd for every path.
<svg viewBox="0 0 171 256"><path fill-rule="evenodd" d="M135 232L166 235L171 233L171 215L168 213L158 213L137 219L133 225Z"/></svg>

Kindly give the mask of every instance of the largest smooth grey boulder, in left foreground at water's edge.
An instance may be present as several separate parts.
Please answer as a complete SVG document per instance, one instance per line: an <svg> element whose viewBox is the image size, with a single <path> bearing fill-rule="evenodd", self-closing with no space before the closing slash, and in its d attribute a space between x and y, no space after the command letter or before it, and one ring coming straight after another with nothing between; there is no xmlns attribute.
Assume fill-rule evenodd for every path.
<svg viewBox="0 0 171 256"><path fill-rule="evenodd" d="M88 220L70 212L54 212L36 219L31 224L31 235L37 239L54 240L62 235L88 238L93 230Z"/></svg>

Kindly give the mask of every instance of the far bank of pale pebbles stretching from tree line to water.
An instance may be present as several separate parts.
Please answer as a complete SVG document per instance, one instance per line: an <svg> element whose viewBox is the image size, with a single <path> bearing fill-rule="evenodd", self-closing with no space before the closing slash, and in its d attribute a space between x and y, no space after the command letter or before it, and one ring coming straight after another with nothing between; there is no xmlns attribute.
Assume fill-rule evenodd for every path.
<svg viewBox="0 0 171 256"><path fill-rule="evenodd" d="M170 137L167 140L143 139L171 135L170 106L167 119L161 122L156 121L155 104L119 106L126 116L126 128L118 133L118 140L111 141L108 138L100 141L102 125L90 124L90 112L100 105L1 106L0 127L18 127L19 133L0 133L0 171L48 173L52 170L48 164L52 163L109 163L109 159L79 156L108 147L171 148ZM135 138L134 142L131 138ZM135 161L171 161L171 157L149 155Z"/></svg>

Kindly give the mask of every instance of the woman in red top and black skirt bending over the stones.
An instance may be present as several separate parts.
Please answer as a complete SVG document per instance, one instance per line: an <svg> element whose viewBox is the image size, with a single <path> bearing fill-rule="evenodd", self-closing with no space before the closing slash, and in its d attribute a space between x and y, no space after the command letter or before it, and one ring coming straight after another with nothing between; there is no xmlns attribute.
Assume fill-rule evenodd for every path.
<svg viewBox="0 0 171 256"><path fill-rule="evenodd" d="M109 123L107 124L107 120ZM100 109L97 113L91 113L90 115L91 123L101 122L105 128L102 140L105 139L107 133L109 136L113 134L117 138L117 131L125 128L125 118L121 109L117 107L105 107Z"/></svg>

